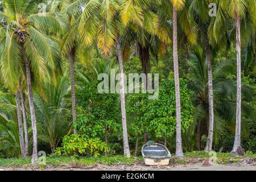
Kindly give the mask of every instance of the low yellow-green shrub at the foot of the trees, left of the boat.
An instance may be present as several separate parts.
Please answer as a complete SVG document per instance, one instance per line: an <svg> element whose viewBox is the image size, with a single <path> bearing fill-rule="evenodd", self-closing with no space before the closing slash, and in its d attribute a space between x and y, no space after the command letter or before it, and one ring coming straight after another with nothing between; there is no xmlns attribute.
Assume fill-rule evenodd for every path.
<svg viewBox="0 0 256 182"><path fill-rule="evenodd" d="M62 147L56 149L57 155L99 156L107 152L104 142L98 138L88 138L87 135L73 134L63 138Z"/></svg>

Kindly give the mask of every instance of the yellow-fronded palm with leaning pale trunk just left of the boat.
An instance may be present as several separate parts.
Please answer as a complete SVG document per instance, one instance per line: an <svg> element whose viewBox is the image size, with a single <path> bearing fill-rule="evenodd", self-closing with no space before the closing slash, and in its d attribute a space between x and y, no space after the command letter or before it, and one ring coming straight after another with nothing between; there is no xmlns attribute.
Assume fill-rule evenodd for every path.
<svg viewBox="0 0 256 182"><path fill-rule="evenodd" d="M76 1L72 3L66 8L66 11L70 11L75 7L79 7L81 3L84 5L84 2L82 1ZM70 32L75 32L74 30L76 29L79 30L82 43L86 47L92 45L94 40L96 40L98 48L100 48L105 56L109 55L110 52L113 53L114 47L117 51L116 53L120 73L123 148L125 156L129 158L130 149L126 126L125 85L123 80L123 41L121 42L121 40L125 39L125 26L130 22L136 22L143 26L143 11L139 5L143 6L145 3L141 0L120 1L119 3L114 0L88 1ZM136 6L136 9L129 5ZM127 9L125 9L125 7L127 7ZM137 16L134 16L133 13L137 14ZM71 47L72 43L69 41L67 45Z"/></svg>

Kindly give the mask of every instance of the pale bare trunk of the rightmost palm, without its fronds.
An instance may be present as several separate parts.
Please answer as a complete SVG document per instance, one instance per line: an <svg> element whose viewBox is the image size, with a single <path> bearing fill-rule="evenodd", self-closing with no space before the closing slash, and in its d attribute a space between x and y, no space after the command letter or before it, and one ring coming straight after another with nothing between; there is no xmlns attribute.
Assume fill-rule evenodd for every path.
<svg viewBox="0 0 256 182"><path fill-rule="evenodd" d="M236 115L236 137L234 139L232 155L238 155L241 151L241 37L240 37L240 17L235 12L236 23L236 46L237 46L237 115Z"/></svg>

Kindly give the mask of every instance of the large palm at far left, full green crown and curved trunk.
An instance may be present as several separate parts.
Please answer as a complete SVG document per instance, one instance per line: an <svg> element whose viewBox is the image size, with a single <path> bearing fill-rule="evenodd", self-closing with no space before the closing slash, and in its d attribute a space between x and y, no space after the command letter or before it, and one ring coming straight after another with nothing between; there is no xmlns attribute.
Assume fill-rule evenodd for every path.
<svg viewBox="0 0 256 182"><path fill-rule="evenodd" d="M19 77L25 68L27 79L28 103L30 106L33 152L32 163L36 163L38 155L35 107L32 100L32 79L50 78L59 61L59 48L52 35L63 31L65 17L50 13L38 13L38 3L47 1L2 1L3 12L0 13L1 26L5 41L1 58L1 73L9 88L19 85ZM56 18L57 16L57 18ZM63 22L62 22L63 21ZM48 72L49 70L51 72ZM31 74L32 73L32 74ZM33 75L33 77L32 77ZM36 77L34 76L36 75Z"/></svg>

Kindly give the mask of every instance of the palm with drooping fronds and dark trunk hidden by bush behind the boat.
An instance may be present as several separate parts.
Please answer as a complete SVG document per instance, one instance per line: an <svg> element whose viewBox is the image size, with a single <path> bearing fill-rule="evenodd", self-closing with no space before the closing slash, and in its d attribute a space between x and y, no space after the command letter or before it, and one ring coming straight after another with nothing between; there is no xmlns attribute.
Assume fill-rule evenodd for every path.
<svg viewBox="0 0 256 182"><path fill-rule="evenodd" d="M147 89L147 70L150 53L158 58L166 51L166 44L171 43L165 19L159 18L158 9L170 4L169 1L123 1L120 6L122 23L127 27L123 40L123 60L126 61L130 49L134 48L141 60L142 71L145 75L144 90ZM138 16L133 16L136 14ZM134 55L132 53L132 55ZM147 132L144 131L144 143L147 142Z"/></svg>

